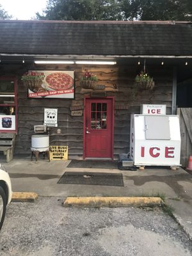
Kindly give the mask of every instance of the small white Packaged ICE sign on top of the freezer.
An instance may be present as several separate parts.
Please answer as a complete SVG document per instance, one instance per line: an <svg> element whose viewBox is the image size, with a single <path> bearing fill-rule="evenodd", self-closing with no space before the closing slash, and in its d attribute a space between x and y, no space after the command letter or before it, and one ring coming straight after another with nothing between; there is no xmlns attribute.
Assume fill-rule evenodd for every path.
<svg viewBox="0 0 192 256"><path fill-rule="evenodd" d="M166 105L143 104L140 113L142 115L166 115Z"/></svg>

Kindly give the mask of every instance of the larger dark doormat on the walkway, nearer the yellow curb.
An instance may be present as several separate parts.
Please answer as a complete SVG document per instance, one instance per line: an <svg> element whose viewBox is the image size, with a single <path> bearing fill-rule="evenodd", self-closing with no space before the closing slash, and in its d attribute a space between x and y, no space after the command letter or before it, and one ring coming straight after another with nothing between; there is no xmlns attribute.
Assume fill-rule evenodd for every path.
<svg viewBox="0 0 192 256"><path fill-rule="evenodd" d="M122 173L65 172L58 183L121 187L124 186Z"/></svg>

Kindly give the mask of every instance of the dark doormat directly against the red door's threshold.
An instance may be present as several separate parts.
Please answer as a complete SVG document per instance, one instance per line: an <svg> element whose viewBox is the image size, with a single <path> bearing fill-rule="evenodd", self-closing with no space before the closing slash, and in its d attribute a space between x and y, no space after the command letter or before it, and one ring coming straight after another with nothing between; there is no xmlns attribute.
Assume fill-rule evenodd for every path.
<svg viewBox="0 0 192 256"><path fill-rule="evenodd" d="M118 169L118 161L113 160L76 160L72 159L68 168L102 168L102 169Z"/></svg>

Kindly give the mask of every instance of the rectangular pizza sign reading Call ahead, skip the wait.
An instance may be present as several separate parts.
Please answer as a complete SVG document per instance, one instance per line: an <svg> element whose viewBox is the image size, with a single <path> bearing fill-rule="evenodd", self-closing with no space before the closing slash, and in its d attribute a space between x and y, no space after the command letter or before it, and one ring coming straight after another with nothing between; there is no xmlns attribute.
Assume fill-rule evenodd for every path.
<svg viewBox="0 0 192 256"><path fill-rule="evenodd" d="M74 71L29 70L36 74L28 81L29 98L65 98L74 99ZM43 74L40 80L38 74Z"/></svg>

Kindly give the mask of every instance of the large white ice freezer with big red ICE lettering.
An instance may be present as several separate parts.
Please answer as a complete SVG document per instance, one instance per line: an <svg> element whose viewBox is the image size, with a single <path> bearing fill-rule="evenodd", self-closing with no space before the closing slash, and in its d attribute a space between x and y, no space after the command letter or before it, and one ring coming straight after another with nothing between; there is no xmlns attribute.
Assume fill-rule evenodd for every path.
<svg viewBox="0 0 192 256"><path fill-rule="evenodd" d="M180 166L177 115L131 115L130 156L135 166Z"/></svg>

